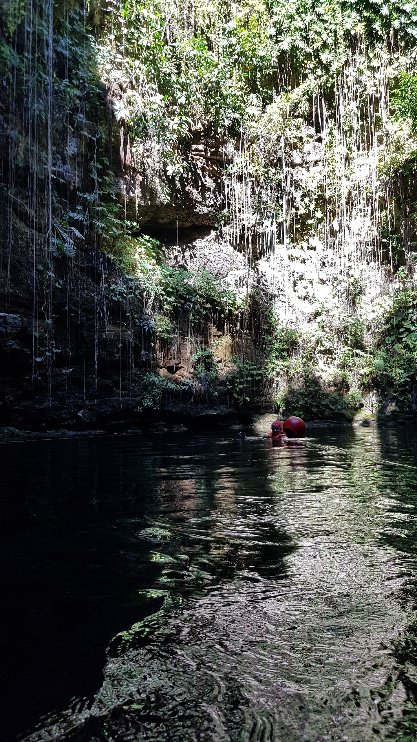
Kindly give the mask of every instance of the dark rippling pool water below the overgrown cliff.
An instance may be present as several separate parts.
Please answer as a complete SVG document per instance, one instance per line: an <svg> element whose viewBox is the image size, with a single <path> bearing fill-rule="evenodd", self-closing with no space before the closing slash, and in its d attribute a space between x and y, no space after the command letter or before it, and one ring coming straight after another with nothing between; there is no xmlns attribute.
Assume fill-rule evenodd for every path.
<svg viewBox="0 0 417 742"><path fill-rule="evenodd" d="M1 739L403 738L416 452L411 427L4 444Z"/></svg>

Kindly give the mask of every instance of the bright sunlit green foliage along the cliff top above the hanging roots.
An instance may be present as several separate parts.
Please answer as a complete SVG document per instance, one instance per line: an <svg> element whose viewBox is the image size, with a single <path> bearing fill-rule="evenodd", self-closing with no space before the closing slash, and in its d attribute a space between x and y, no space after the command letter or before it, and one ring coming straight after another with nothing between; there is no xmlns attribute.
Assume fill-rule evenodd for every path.
<svg viewBox="0 0 417 742"><path fill-rule="evenodd" d="M128 128L132 153L146 164L145 140L155 139L168 177L186 167L178 144L194 122L208 122L219 134L239 135L256 122L275 93L280 69L291 68L306 92L334 84L352 38L367 34L371 44L416 33L413 4L396 1L243 0L214 1L198 8L194 28L177 7L174 22L161 0L108 3L96 47L102 79L122 85L114 101L117 122ZM111 39L109 39L111 30ZM289 89L284 91L290 94Z"/></svg>

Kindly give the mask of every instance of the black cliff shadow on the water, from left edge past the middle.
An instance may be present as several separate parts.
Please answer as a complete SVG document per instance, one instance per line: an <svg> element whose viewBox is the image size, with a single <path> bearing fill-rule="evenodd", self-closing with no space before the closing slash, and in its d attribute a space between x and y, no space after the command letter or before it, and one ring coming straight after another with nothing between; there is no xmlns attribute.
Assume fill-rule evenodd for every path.
<svg viewBox="0 0 417 742"><path fill-rule="evenodd" d="M162 587L174 591L197 595L205 580L232 579L248 561L284 577L291 539L265 521L265 505L249 504L252 526L245 525L243 539L253 531L255 546L226 539L225 548L215 533L204 540L219 493L226 509L235 496L250 496L269 457L263 444L242 450L239 441L218 434L0 448L3 742L65 708L71 697L93 697L112 637L162 605L163 597L140 592L154 586L161 551L166 557L183 549L196 568L198 559L204 562L208 577L201 580L197 574L184 582L183 574L168 571ZM200 522L192 524L190 539L193 518ZM141 535L153 522L162 530L164 523L173 526L168 541ZM207 562L217 537L219 554Z"/></svg>

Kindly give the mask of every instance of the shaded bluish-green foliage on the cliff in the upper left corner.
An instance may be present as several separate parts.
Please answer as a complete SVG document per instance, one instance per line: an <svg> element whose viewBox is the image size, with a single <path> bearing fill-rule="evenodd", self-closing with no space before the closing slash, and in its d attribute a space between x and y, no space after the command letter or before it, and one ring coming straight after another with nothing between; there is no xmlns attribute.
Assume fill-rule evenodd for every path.
<svg viewBox="0 0 417 742"><path fill-rule="evenodd" d="M27 213L51 223L44 245L50 272L53 258L84 246L98 218L102 184L93 153L104 109L85 12L52 5L52 25L47 3L10 0L0 8L0 116L3 147L9 141L13 152L7 190L16 203L13 188L29 189Z"/></svg>

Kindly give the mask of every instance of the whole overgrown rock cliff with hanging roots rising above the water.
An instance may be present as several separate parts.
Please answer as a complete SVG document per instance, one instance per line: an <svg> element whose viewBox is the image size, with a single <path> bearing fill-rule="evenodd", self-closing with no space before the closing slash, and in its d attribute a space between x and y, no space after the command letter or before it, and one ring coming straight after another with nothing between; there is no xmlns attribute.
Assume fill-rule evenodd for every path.
<svg viewBox="0 0 417 742"><path fill-rule="evenodd" d="M413 413L415 3L0 13L0 424Z"/></svg>

